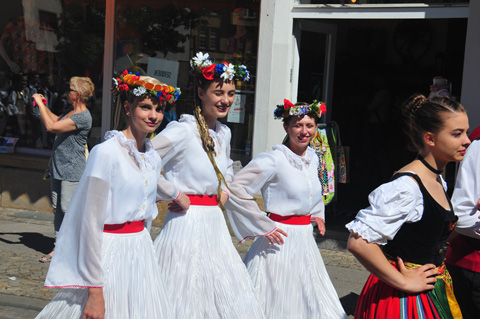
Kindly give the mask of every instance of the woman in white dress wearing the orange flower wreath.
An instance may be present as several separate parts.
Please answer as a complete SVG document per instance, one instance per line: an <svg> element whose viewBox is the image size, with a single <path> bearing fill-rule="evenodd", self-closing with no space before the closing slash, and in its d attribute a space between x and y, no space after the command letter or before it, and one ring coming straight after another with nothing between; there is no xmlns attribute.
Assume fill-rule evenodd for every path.
<svg viewBox="0 0 480 319"><path fill-rule="evenodd" d="M37 318L175 318L144 224L158 214L159 180L164 198L175 191L146 136L179 90L125 71L112 91L128 124L90 153L45 281L62 289Z"/></svg>

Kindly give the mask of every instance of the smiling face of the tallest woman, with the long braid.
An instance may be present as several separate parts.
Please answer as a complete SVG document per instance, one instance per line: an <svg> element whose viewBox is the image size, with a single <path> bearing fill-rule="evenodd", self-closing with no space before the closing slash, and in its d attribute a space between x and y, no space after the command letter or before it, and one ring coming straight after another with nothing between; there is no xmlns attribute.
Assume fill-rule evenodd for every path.
<svg viewBox="0 0 480 319"><path fill-rule="evenodd" d="M215 79L207 90L198 88L198 97L202 101L202 115L205 118L224 118L235 98L235 84L233 81Z"/></svg>

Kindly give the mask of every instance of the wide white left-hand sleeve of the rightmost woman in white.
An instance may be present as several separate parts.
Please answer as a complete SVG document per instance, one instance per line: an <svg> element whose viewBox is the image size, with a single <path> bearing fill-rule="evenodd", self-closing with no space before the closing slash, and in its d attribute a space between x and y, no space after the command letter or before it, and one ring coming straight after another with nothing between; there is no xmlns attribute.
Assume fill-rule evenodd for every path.
<svg viewBox="0 0 480 319"><path fill-rule="evenodd" d="M269 153L261 153L233 178L230 184L232 193L225 208L233 233L240 242L249 237L269 235L277 229L256 201L248 200L254 198L275 172L275 158Z"/></svg>

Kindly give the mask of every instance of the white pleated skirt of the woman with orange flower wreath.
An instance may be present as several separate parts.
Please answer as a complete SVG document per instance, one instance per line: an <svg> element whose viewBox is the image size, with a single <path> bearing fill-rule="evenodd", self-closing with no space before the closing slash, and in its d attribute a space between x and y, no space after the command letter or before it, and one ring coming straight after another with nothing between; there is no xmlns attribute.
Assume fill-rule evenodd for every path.
<svg viewBox="0 0 480 319"><path fill-rule="evenodd" d="M153 243L138 233L103 233L105 319L174 318ZM82 318L88 288L62 288L36 318Z"/></svg>

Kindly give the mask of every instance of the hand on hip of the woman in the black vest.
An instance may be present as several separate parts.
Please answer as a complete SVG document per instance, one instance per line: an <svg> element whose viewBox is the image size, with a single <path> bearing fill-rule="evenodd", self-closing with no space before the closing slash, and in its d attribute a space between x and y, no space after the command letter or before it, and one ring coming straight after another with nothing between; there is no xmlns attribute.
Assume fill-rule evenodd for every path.
<svg viewBox="0 0 480 319"><path fill-rule="evenodd" d="M418 268L407 269L403 260L397 257L398 270L405 279L405 287L401 290L407 293L420 293L427 290L434 289L434 284L437 282L435 276L440 272L436 269L434 264L425 264Z"/></svg>

